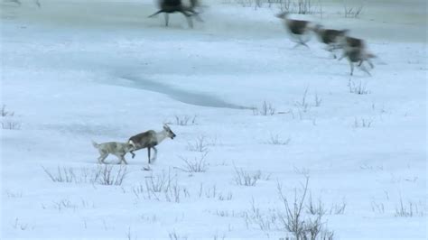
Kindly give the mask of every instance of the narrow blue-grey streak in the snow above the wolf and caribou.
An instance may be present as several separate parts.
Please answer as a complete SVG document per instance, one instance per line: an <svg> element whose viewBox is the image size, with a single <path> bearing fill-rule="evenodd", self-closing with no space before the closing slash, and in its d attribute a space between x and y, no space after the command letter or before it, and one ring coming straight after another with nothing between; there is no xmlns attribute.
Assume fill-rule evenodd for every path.
<svg viewBox="0 0 428 240"><path fill-rule="evenodd" d="M210 106L210 107L223 107L232 109L252 109L248 106L239 106L228 103L219 97L210 96L203 93L186 91L179 88L173 88L163 83L155 82L153 80L137 77L134 75L119 76L119 78L126 79L132 83L134 88L142 88L144 90L163 93L173 99L185 104L196 106Z"/></svg>

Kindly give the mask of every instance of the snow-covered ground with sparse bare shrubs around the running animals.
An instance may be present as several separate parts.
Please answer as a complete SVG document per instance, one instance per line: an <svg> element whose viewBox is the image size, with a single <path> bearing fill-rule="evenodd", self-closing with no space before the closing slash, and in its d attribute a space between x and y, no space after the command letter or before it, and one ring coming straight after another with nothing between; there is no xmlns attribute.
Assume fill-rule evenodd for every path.
<svg viewBox="0 0 428 240"><path fill-rule="evenodd" d="M357 19L337 14L338 1L322 19L296 16L367 40L376 67L352 78L314 37L293 49L276 8L205 1L204 23L189 29L180 14L169 28L147 18L151 0L5 2L2 239L292 237L277 187L293 208L306 179L302 218L316 217L311 198L321 203L334 239L426 239L423 0L373 1ZM126 167L97 163L91 140L164 123L177 137L152 171L145 150ZM123 181L103 184L109 170ZM242 174L255 186L238 184Z"/></svg>

